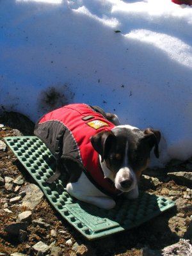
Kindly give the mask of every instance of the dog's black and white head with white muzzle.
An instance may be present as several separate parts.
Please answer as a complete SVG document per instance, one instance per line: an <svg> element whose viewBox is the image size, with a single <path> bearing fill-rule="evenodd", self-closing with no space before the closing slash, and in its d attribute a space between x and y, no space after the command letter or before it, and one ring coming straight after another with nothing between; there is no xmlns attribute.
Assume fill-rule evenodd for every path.
<svg viewBox="0 0 192 256"><path fill-rule="evenodd" d="M90 138L99 153L102 166L112 173L115 187L128 192L136 188L141 172L147 168L154 148L159 157L161 133L153 129L141 131L130 125L120 125L111 131L102 131Z"/></svg>

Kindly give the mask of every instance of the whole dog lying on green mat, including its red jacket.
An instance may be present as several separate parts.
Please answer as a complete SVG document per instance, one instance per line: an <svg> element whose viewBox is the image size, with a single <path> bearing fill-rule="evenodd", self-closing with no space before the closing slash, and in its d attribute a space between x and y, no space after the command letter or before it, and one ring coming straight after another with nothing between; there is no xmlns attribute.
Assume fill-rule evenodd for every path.
<svg viewBox="0 0 192 256"><path fill-rule="evenodd" d="M138 198L138 180L152 148L159 157L161 140L158 130L120 125L115 114L86 104L70 104L46 114L36 124L35 135L58 161L56 173L47 182L67 172L68 193L102 209L115 207L122 194Z"/></svg>

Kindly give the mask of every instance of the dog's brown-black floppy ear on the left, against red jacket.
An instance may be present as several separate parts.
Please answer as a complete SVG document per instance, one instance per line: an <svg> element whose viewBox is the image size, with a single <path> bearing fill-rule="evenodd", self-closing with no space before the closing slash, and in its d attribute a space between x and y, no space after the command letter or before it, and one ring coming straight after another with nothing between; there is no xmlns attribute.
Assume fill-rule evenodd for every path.
<svg viewBox="0 0 192 256"><path fill-rule="evenodd" d="M116 137L111 131L102 131L90 138L93 148L100 154L101 161L104 161L107 156L111 143Z"/></svg>

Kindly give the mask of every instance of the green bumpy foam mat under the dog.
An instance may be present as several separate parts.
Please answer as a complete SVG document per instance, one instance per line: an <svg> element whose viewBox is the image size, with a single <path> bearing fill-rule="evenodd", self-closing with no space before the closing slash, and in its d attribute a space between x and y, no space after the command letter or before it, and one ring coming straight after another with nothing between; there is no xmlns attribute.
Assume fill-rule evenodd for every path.
<svg viewBox="0 0 192 256"><path fill-rule="evenodd" d="M47 180L56 170L56 160L36 136L4 138L26 170L36 180L53 207L87 239L97 239L138 227L175 204L163 196L140 193L136 200L119 198L111 210L99 209L72 198L61 175L52 184Z"/></svg>

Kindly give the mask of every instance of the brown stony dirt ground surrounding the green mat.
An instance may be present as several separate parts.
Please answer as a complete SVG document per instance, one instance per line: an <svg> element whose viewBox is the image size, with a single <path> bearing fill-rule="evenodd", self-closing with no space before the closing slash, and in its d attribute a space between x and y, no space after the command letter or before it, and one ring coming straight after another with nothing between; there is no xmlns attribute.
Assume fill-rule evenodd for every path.
<svg viewBox="0 0 192 256"><path fill-rule="evenodd" d="M6 136L33 135L34 124L18 113L5 113L0 118L0 140ZM147 169L140 180L140 189L148 193L163 195L176 202L176 206L163 212L163 214L144 223L140 227L132 228L122 233L95 241L88 241L77 230L61 218L46 198L43 197L40 204L33 209L32 218L38 220L42 218L49 227L40 227L30 223L26 232L27 237L20 241L18 236L13 236L4 231L8 223L17 221L18 214L28 209L22 207L20 203L10 204L10 198L18 196L19 191L26 184L35 183L33 178L26 172L24 167L13 155L10 148L6 147L5 152L0 151L0 176L11 177L13 179L22 175L24 184L19 191L8 191L4 185L0 186L0 253L18 252L26 255L92 255L92 256L145 256L161 255L161 250L170 244L177 243L180 238L192 239L191 214L192 205L189 194L191 185L184 182L175 182L168 177L168 172L187 171L191 172L191 159L182 163L172 161L161 169ZM190 165L191 164L191 165ZM147 177L157 178L157 182L148 182ZM12 212L4 211L5 202L7 208ZM52 235L54 230L56 234ZM43 243L60 248L60 254L51 253L51 249L46 253L35 252L33 246L42 241ZM150 254L156 253L156 254ZM159 254L158 254L159 253ZM0 254L1 255L1 254Z"/></svg>

